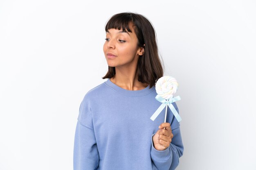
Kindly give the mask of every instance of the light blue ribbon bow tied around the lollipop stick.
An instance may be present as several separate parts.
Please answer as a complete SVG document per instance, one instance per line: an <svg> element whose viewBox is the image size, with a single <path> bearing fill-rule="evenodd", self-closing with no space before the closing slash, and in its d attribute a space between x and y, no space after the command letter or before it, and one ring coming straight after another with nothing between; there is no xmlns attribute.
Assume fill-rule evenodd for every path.
<svg viewBox="0 0 256 170"><path fill-rule="evenodd" d="M159 96L157 94L157 96L155 96L155 99L157 99L159 102L162 102L162 105L160 105L158 107L158 109L155 111L155 113L151 116L151 120L155 120L155 118L157 118L157 116L161 113L161 111L164 109L164 107L166 107L166 105L168 105L168 107L171 109L171 111L173 112L173 115L175 116L175 118L177 119L178 122L181 121L181 117L179 115L179 113L176 111L176 109L173 106L173 102L176 102L178 100L180 100L180 96L176 96L174 98L171 98L169 100L165 100L164 98L162 98L161 96Z"/></svg>

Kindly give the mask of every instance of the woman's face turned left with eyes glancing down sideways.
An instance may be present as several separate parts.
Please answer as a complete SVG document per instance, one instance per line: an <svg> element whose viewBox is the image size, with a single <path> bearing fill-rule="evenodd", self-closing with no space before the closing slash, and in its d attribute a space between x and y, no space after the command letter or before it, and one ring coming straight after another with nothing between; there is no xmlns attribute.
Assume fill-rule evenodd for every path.
<svg viewBox="0 0 256 170"><path fill-rule="evenodd" d="M103 51L110 67L137 66L144 48L137 46L137 36L133 28L131 31L132 33L112 28L106 32Z"/></svg>

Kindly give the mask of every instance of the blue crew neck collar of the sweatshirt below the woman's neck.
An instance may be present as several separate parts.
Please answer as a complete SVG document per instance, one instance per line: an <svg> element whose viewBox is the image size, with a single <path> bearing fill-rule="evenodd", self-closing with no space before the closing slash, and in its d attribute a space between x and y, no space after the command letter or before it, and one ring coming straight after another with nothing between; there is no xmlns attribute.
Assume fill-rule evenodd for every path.
<svg viewBox="0 0 256 170"><path fill-rule="evenodd" d="M155 87L151 87L151 89L149 89L150 85L148 85L146 88L141 89L141 90L127 90L127 89L123 89L123 88L119 87L118 85L116 85L115 83L110 81L109 78L104 83L108 87L117 91L119 94L123 94L125 96L144 96L144 95L151 93L155 89Z"/></svg>

